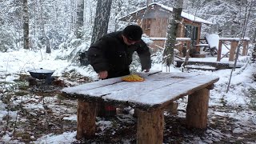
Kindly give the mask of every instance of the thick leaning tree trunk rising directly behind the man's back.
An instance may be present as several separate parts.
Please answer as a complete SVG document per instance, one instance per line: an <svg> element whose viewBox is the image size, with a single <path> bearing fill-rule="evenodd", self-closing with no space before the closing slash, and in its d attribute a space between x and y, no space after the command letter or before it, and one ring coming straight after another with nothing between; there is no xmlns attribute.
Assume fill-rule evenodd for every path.
<svg viewBox="0 0 256 144"><path fill-rule="evenodd" d="M98 0L91 43L107 33L112 0Z"/></svg>

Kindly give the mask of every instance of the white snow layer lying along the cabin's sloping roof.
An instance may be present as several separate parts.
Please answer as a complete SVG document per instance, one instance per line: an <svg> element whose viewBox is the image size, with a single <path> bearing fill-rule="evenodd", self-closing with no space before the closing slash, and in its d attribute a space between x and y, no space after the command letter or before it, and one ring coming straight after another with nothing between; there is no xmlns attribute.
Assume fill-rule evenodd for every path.
<svg viewBox="0 0 256 144"><path fill-rule="evenodd" d="M168 10L168 11L171 11L171 12L173 11L173 8L172 8L172 7L164 6L164 5L162 5L162 4L159 4L158 2L153 2L153 3L151 3L149 6L153 6L153 5L161 6L163 9ZM144 9L146 9L146 7L147 7L147 6L144 6L144 7L142 7L141 9L136 10L136 11L134 11L134 12L128 14L128 15L137 13L137 12L140 11L140 10L144 10ZM126 16L125 16L125 17L126 17ZM125 17L122 17L122 18L125 18ZM193 14L188 14L188 13L185 13L185 12L183 12L183 11L182 11L182 17L183 17L183 18L186 18L186 19L189 19L189 20L192 21L192 22L200 22L200 23L205 23L205 24L210 24L210 25L214 24L214 23L209 22L209 21L206 21L206 20L204 20L204 19L202 19L202 18L198 18L198 17L194 16ZM122 18L119 18L119 19L122 19Z"/></svg>

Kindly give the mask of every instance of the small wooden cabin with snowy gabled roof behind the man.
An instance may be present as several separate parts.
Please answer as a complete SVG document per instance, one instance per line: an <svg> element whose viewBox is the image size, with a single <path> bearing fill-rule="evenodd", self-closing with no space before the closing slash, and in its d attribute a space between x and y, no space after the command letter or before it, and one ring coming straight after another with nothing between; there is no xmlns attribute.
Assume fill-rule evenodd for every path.
<svg viewBox="0 0 256 144"><path fill-rule="evenodd" d="M137 22L138 25L142 27L143 32L154 41L153 45L150 45L150 47L158 49L159 47L164 47L164 38L166 38L169 18L172 11L173 8L154 2L119 20ZM182 12L182 24L178 26L178 34L176 37L191 39L190 42L182 42L182 44L186 43L186 45L191 46L199 44L202 23L212 24L202 18Z"/></svg>

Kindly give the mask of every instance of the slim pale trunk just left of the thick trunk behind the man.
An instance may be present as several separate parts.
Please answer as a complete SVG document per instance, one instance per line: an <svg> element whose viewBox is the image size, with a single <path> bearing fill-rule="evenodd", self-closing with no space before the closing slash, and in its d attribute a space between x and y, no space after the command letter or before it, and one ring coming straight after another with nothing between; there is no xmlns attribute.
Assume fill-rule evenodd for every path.
<svg viewBox="0 0 256 144"><path fill-rule="evenodd" d="M85 5L84 0L78 0L78 3L77 3L76 30L75 30L75 35L76 35L77 38L82 38L84 5Z"/></svg>

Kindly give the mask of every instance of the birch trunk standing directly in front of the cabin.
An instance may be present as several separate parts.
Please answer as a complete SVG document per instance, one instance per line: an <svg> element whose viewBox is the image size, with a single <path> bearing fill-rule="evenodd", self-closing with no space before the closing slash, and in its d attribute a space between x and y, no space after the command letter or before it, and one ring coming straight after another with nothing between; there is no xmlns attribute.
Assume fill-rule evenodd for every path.
<svg viewBox="0 0 256 144"><path fill-rule="evenodd" d="M167 40L165 44L165 50L163 52L163 63L169 68L174 61L174 48L176 43L176 35L178 30L178 24L182 22L182 5L183 0L175 1L173 13L169 19L169 26L167 30Z"/></svg>

